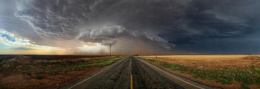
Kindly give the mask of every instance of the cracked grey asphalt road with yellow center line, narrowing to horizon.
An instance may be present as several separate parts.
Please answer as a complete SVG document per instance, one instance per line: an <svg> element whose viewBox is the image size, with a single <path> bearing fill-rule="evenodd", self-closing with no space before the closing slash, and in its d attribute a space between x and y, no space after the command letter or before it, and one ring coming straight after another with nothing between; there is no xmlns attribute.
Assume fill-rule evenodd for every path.
<svg viewBox="0 0 260 89"><path fill-rule="evenodd" d="M188 82L187 82L188 81ZM203 89L210 88L173 75L148 62L129 56L86 78L72 82L64 89Z"/></svg>

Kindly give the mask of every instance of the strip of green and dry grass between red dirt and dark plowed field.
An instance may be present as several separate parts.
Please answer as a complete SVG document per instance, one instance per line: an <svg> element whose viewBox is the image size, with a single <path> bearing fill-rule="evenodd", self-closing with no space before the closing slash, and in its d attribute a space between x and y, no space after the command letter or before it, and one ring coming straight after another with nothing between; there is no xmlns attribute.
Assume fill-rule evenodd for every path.
<svg viewBox="0 0 260 89"><path fill-rule="evenodd" d="M0 73L64 73L68 70L81 70L87 67L103 67L127 56L81 58L62 60L35 60L31 57L17 55L14 59L0 62Z"/></svg>

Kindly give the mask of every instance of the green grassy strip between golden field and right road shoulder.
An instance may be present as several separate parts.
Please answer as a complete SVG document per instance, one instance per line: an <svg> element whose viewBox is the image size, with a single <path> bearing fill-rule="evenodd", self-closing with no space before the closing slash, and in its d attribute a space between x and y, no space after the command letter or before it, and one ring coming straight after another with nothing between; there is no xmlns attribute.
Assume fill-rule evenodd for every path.
<svg viewBox="0 0 260 89"><path fill-rule="evenodd" d="M166 63L164 61L158 61L155 59L145 59L137 57L139 59L154 62L161 67L170 68L172 70L178 70L182 72L187 72L194 78L201 78L203 80L209 80L216 82L221 82L222 84L232 84L233 81L242 82L243 88L249 88L249 84L260 84L260 67L253 65L249 68L224 68L224 69L214 69L214 68L204 68L196 69L193 67L186 67L174 63Z"/></svg>

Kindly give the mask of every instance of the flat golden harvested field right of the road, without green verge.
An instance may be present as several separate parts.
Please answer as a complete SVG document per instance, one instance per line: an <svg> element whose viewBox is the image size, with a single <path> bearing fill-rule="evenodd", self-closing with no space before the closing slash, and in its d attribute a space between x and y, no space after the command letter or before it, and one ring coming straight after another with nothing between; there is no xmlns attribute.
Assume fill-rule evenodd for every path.
<svg viewBox="0 0 260 89"><path fill-rule="evenodd" d="M176 63L196 68L248 68L260 65L260 58L253 55L169 55L140 56L168 63Z"/></svg>

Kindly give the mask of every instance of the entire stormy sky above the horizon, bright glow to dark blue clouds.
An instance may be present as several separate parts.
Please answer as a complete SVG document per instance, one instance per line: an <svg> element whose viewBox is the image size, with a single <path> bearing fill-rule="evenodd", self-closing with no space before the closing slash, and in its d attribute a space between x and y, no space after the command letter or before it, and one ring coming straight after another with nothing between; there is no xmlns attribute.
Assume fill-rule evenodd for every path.
<svg viewBox="0 0 260 89"><path fill-rule="evenodd" d="M259 0L0 1L0 54L260 52Z"/></svg>

